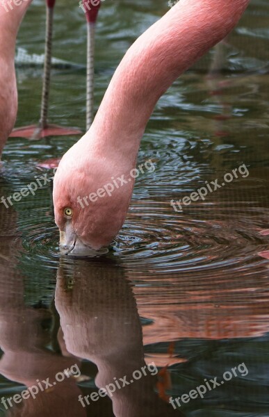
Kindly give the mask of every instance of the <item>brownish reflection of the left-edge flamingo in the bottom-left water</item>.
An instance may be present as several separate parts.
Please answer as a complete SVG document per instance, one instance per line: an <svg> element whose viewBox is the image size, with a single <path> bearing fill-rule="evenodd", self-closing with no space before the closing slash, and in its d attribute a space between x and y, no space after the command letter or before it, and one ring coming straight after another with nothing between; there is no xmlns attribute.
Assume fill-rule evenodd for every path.
<svg viewBox="0 0 269 417"><path fill-rule="evenodd" d="M0 213L0 373L20 384L19 391L8 393L12 398L21 393L23 386L37 385L49 378L55 382L56 374L71 368L80 361L70 354L58 354L49 347L49 323L52 312L42 306L30 307L24 303L24 276L17 267L20 243L16 231L17 215L12 208L7 212L1 206ZM15 248L16 246L16 248ZM75 374L74 374L75 375ZM43 387L45 385L43 384ZM81 393L74 377L65 378L55 386L15 404L14 400L2 402L6 416L51 417L74 415L85 417L77 397Z"/></svg>

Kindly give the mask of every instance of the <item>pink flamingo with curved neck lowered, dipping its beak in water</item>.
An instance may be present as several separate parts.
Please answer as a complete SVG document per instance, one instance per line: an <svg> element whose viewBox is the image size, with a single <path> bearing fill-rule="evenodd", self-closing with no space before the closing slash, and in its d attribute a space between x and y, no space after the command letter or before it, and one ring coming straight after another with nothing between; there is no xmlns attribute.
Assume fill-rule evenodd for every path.
<svg viewBox="0 0 269 417"><path fill-rule="evenodd" d="M156 101L228 35L248 3L181 0L127 51L90 130L63 156L56 172L54 211L65 254L96 254L117 235L133 190L130 172ZM109 196L104 186L113 179L121 184Z"/></svg>

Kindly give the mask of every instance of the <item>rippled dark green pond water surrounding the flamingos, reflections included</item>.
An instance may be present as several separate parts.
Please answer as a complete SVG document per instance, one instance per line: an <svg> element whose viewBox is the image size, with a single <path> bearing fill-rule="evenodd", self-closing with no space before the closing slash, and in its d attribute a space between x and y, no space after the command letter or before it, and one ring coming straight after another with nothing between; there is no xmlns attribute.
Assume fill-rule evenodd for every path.
<svg viewBox="0 0 269 417"><path fill-rule="evenodd" d="M104 2L96 107L124 51L166 10L159 0ZM108 256L60 258L51 182L8 209L0 204L1 397L37 379L55 382L75 364L83 375L78 384L66 377L35 400L13 403L11 411L2 402L0 416L113 416L112 404L124 417L180 410L188 417L269 415L269 235L261 234L269 228L268 27L268 2L252 1L225 44L158 102L138 156L138 163L152 158L156 170L136 180L127 221ZM18 47L41 55L43 32L40 0L28 11ZM52 123L84 129L85 40L83 13L59 0L54 57L71 65L53 70ZM212 73L218 67L222 71ZM38 120L41 75L40 65L17 65L17 126ZM47 173L39 164L76 140L10 139L0 195L13 195ZM222 183L243 164L247 177L238 174L177 212L170 205L205 181ZM90 400L83 408L78 401L114 378L130 381L133 370L152 361L158 384L148 370L148 377L117 390L113 402ZM181 401L177 411L167 402L215 377L220 382L243 363L247 375L242 365L221 386L212 389L211 382L204 398Z"/></svg>

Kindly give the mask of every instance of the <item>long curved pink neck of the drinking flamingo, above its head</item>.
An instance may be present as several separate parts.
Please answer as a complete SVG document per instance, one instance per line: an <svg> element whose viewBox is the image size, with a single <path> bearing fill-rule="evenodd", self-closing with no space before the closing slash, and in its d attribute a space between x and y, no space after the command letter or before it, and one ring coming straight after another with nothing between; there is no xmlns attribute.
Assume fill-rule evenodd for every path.
<svg viewBox="0 0 269 417"><path fill-rule="evenodd" d="M136 160L154 106L175 79L236 26L250 0L181 0L122 59L89 133L102 156ZM88 134L86 134L87 136Z"/></svg>

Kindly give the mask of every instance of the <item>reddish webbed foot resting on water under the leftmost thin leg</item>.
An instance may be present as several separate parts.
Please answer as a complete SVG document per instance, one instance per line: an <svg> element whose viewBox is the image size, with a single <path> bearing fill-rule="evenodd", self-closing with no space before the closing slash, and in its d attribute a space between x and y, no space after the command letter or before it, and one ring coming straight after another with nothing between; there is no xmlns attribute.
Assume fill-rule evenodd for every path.
<svg viewBox="0 0 269 417"><path fill-rule="evenodd" d="M33 124L31 126L13 129L9 137L38 140L41 138L46 138L47 136L80 135L81 133L81 130L72 127L60 127L56 126L56 124L49 124L47 127L42 128Z"/></svg>

